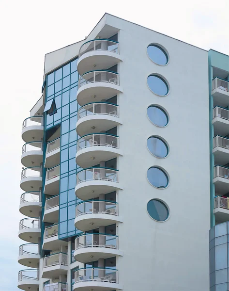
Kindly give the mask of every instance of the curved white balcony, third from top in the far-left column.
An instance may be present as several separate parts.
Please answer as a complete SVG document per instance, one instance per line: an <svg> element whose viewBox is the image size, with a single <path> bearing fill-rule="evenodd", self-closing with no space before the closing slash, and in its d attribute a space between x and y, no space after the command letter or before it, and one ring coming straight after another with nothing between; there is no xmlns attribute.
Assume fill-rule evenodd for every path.
<svg viewBox="0 0 229 291"><path fill-rule="evenodd" d="M42 187L42 168L29 167L21 172L20 187L25 192L39 191Z"/></svg>

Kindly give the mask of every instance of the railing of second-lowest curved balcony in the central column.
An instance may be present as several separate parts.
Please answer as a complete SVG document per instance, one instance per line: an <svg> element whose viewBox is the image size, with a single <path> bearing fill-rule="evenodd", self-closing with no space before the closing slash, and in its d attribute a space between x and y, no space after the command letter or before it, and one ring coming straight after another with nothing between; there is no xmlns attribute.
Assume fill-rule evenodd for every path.
<svg viewBox="0 0 229 291"><path fill-rule="evenodd" d="M87 233L76 237L76 250L92 246L118 249L118 236L103 233Z"/></svg>

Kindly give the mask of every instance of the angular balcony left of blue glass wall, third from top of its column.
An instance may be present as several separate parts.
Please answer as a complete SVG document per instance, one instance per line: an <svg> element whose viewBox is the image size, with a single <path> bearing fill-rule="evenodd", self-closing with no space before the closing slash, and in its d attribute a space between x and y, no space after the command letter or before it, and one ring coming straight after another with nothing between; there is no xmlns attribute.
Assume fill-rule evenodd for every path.
<svg viewBox="0 0 229 291"><path fill-rule="evenodd" d="M59 220L59 194L46 199L43 221L55 223Z"/></svg>

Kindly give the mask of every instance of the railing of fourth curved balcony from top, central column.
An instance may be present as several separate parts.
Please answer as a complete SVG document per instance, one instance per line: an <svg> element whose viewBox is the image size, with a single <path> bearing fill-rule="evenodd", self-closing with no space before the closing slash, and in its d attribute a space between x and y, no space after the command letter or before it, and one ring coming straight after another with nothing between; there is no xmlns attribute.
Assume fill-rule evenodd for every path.
<svg viewBox="0 0 229 291"><path fill-rule="evenodd" d="M109 146L119 148L119 137L107 133L93 133L84 135L77 140L77 151L90 146Z"/></svg>

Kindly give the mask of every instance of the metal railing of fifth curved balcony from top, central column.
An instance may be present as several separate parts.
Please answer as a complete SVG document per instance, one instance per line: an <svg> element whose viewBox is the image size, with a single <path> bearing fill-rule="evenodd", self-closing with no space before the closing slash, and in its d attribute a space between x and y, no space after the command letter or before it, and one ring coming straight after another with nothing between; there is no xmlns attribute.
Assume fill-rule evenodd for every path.
<svg viewBox="0 0 229 291"><path fill-rule="evenodd" d="M92 180L105 180L119 183L119 171L98 167L83 169L76 175L76 184Z"/></svg>

